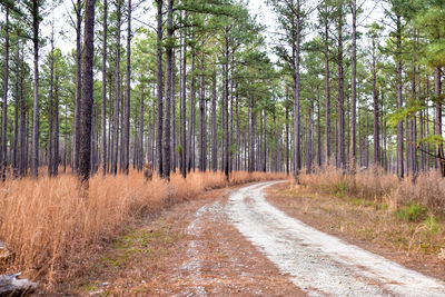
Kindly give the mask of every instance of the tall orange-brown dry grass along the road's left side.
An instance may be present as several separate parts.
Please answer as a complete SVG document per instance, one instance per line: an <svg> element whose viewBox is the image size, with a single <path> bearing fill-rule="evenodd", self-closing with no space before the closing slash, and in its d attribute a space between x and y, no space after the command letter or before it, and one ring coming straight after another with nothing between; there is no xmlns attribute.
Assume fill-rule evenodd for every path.
<svg viewBox="0 0 445 297"><path fill-rule="evenodd" d="M229 185L281 179L281 174L234 172ZM146 182L141 172L96 176L89 198L80 198L76 177L8 180L0 186L0 239L13 251L7 270L55 284L79 271L89 255L147 214L227 186L221 172L172 175Z"/></svg>

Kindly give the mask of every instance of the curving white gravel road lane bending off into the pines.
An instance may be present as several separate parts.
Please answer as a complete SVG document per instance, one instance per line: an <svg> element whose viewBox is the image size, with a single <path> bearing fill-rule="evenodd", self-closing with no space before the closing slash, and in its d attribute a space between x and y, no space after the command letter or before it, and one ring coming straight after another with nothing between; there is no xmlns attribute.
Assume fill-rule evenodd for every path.
<svg viewBox="0 0 445 297"><path fill-rule="evenodd" d="M318 231L265 200L261 182L235 191L236 228L309 296L445 296L445 283Z"/></svg>

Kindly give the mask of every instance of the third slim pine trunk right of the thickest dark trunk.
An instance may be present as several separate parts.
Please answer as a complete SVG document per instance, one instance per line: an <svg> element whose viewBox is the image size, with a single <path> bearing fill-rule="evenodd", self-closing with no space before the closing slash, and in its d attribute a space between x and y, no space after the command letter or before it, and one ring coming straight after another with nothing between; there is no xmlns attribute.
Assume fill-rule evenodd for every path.
<svg viewBox="0 0 445 297"><path fill-rule="evenodd" d="M128 0L127 26L127 89L125 102L125 131L123 131L123 172L128 175L130 164L130 96L131 96L131 0Z"/></svg>

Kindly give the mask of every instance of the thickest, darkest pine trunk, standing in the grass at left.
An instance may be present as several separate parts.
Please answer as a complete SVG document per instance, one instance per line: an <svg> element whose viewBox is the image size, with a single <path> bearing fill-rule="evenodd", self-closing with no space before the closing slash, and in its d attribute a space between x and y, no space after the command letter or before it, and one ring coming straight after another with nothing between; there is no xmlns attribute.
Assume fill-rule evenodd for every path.
<svg viewBox="0 0 445 297"><path fill-rule="evenodd" d="M83 57L82 57L82 96L80 100L80 130L79 130L79 179L88 188L91 158L91 112L93 102L93 50L95 50L95 3L96 0L86 0Z"/></svg>

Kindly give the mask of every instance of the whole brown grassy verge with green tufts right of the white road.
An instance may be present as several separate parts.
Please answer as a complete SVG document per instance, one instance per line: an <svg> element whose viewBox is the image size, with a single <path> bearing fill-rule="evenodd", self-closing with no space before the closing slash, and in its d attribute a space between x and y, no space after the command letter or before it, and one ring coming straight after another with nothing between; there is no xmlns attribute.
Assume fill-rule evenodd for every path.
<svg viewBox="0 0 445 297"><path fill-rule="evenodd" d="M405 266L445 279L445 180L412 179L370 168L354 176L333 167L300 175L268 199L288 215Z"/></svg>

